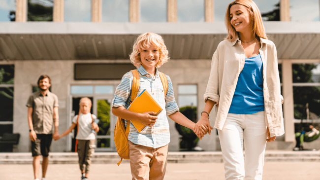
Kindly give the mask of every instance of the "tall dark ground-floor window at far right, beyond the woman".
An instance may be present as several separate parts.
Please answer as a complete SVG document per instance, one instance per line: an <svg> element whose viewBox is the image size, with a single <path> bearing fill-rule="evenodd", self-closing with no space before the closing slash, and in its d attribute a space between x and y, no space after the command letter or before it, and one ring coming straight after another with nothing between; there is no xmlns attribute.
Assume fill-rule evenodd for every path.
<svg viewBox="0 0 320 180"><path fill-rule="evenodd" d="M295 132L320 122L320 63L292 64Z"/></svg>

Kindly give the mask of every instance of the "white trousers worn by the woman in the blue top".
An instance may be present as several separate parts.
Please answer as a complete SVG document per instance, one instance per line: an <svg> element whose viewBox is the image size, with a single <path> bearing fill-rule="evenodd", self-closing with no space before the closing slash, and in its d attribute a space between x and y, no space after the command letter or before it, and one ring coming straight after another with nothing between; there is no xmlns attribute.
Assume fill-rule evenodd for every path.
<svg viewBox="0 0 320 180"><path fill-rule="evenodd" d="M218 134L225 180L262 180L267 138L264 111L254 114L228 113L224 128L218 130Z"/></svg>

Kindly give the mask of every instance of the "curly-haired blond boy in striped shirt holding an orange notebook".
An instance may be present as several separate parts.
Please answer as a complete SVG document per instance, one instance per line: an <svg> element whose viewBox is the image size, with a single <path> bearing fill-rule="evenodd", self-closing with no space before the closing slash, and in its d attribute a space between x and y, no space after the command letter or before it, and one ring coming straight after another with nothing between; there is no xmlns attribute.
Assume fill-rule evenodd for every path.
<svg viewBox="0 0 320 180"><path fill-rule="evenodd" d="M155 112L136 113L127 109L133 79L132 72L127 72L115 92L112 113L123 119L138 120L146 125L146 128L139 133L132 123L129 124L132 180L163 180L170 142L169 123L166 116L193 131L195 124L179 112L173 96L172 82L167 75L168 91L164 95L157 68L167 62L169 57L161 36L154 33L140 35L134 42L130 60L139 72L140 87L137 94L147 89L163 110L156 116ZM127 120L125 122L127 124ZM202 137L206 132L201 133L197 136Z"/></svg>

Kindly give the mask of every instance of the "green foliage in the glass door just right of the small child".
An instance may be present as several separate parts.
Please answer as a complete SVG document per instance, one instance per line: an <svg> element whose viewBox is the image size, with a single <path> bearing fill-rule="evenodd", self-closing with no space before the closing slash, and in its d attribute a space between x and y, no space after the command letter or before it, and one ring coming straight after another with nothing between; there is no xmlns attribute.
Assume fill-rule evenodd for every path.
<svg viewBox="0 0 320 180"><path fill-rule="evenodd" d="M97 104L97 116L100 120L98 135L110 134L110 104L107 100L98 100Z"/></svg>

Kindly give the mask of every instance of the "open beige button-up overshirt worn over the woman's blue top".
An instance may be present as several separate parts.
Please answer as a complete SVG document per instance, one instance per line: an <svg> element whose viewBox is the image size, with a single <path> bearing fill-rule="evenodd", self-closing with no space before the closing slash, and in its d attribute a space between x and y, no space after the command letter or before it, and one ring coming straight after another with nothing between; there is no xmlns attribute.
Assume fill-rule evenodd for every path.
<svg viewBox="0 0 320 180"><path fill-rule="evenodd" d="M281 136L285 133L281 104L280 78L277 50L270 40L260 38L259 53L263 64L263 97L265 122L270 135ZM213 54L209 81L204 94L207 99L216 102L215 128L222 130L228 114L238 77L245 65L245 51L241 41L223 40Z"/></svg>

